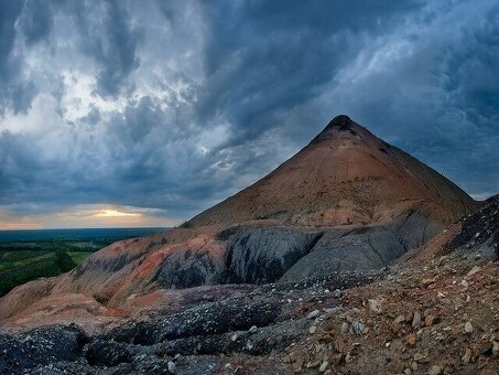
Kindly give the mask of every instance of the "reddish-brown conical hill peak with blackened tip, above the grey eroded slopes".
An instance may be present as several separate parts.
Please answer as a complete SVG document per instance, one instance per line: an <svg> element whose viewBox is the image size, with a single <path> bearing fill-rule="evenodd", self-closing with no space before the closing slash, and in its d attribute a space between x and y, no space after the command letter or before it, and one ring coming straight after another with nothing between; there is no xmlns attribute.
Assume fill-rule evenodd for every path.
<svg viewBox="0 0 499 375"><path fill-rule="evenodd" d="M278 169L191 223L372 225L411 210L449 223L473 204L436 171L339 115Z"/></svg>

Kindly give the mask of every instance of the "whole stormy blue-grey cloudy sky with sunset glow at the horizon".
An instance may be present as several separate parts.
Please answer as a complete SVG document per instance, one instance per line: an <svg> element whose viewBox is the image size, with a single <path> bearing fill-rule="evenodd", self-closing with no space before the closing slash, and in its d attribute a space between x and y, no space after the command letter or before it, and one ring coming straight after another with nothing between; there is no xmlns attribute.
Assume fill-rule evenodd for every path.
<svg viewBox="0 0 499 375"><path fill-rule="evenodd" d="M499 193L499 2L0 0L0 228L176 224L338 114Z"/></svg>

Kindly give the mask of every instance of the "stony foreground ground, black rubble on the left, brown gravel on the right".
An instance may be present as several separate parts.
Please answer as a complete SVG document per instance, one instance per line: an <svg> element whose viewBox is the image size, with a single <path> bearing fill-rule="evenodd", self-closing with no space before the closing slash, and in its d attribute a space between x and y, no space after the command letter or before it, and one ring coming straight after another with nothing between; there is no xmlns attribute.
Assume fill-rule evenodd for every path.
<svg viewBox="0 0 499 375"><path fill-rule="evenodd" d="M0 335L2 374L497 374L499 203L376 272L192 288L86 332Z"/></svg>

